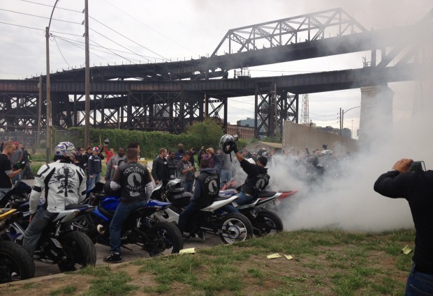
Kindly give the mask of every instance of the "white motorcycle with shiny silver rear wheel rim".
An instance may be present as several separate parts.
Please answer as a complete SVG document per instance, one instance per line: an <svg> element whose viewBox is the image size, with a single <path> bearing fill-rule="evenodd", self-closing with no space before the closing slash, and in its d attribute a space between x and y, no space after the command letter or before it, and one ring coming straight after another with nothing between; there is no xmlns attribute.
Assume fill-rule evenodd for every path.
<svg viewBox="0 0 433 296"><path fill-rule="evenodd" d="M151 198L159 201L168 201L172 203L169 208L155 212L152 217L159 221L168 221L176 223L179 221L179 214L182 208L189 204L192 194L184 192L179 179L163 180L154 188ZM214 203L201 209L191 217L186 225L185 231L194 237L200 233L212 233L219 235L224 244L233 244L241 242L252 237L253 227L244 215L233 213L223 213L221 208L232 201L237 196L229 198L219 197Z"/></svg>

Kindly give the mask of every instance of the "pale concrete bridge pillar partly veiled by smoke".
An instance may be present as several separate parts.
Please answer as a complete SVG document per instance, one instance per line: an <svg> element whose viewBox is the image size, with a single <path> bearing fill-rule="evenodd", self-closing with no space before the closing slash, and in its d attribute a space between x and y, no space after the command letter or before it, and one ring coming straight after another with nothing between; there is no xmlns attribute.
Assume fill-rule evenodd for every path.
<svg viewBox="0 0 433 296"><path fill-rule="evenodd" d="M360 146L368 148L392 134L392 99L394 91L385 86L361 88Z"/></svg>

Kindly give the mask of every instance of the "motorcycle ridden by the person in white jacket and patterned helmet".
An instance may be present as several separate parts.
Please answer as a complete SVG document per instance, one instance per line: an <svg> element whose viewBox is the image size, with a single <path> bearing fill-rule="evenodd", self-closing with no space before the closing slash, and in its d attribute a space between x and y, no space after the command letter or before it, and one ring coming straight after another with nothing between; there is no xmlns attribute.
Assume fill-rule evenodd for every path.
<svg viewBox="0 0 433 296"><path fill-rule="evenodd" d="M61 272L78 270L87 265L96 264L96 249L90 238L80 231L74 231L72 225L89 212L91 205L71 204L45 227L33 259L47 264L57 264ZM15 221L6 233L13 242L22 244L24 227Z"/></svg>

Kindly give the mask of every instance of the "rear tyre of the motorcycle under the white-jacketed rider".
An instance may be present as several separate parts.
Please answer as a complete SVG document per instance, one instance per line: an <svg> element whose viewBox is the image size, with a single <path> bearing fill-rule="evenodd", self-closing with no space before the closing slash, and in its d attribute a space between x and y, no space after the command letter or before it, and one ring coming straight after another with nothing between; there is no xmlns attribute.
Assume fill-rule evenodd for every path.
<svg viewBox="0 0 433 296"><path fill-rule="evenodd" d="M72 272L96 264L96 249L91 239L80 231L66 233L60 240L66 260L57 263L61 272Z"/></svg>

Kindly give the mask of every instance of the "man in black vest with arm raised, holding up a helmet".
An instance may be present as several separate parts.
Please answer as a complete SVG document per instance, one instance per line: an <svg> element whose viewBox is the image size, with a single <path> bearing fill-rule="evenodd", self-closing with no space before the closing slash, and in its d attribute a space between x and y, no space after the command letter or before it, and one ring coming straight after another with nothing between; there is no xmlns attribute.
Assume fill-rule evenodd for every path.
<svg viewBox="0 0 433 296"><path fill-rule="evenodd" d="M236 199L237 205L247 205L254 201L261 190L265 189L269 184L270 176L267 174L267 158L260 156L257 158L256 164L251 164L247 159L244 158L242 153L237 150L236 143L230 145L232 150L240 163L240 166L247 173L247 179L245 179L244 185L240 190L239 197ZM227 212L239 212L233 205L226 205L224 210Z"/></svg>

